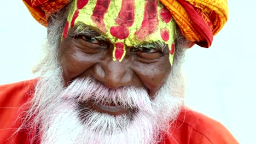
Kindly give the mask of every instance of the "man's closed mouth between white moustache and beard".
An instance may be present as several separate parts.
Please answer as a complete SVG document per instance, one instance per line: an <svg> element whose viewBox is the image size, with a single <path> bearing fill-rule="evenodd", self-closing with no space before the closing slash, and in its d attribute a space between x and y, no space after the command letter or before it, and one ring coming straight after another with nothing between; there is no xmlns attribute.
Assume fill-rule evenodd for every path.
<svg viewBox="0 0 256 144"><path fill-rule="evenodd" d="M117 116L117 115L124 115L126 113L130 113L131 109L126 109L120 105L116 105L113 102L112 103L100 103L95 104L93 101L82 102L79 104L79 107L87 107L91 110L98 111L100 113L108 113L109 115Z"/></svg>

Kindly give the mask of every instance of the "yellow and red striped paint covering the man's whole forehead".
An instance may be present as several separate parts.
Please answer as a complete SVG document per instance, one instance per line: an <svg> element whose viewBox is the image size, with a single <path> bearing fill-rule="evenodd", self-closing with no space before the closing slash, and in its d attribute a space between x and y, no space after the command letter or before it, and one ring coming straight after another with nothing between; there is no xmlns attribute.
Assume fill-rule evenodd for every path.
<svg viewBox="0 0 256 144"><path fill-rule="evenodd" d="M174 21L158 0L74 0L62 40L78 23L98 29L114 44L113 61L122 61L126 46L153 41L168 44L170 63L174 56Z"/></svg>

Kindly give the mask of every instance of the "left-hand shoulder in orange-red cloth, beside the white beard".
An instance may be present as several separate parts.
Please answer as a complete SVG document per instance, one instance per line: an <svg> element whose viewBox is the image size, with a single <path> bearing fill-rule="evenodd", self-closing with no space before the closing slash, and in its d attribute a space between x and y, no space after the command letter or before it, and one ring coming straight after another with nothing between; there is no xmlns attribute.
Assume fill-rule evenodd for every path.
<svg viewBox="0 0 256 144"><path fill-rule="evenodd" d="M0 143L9 140L19 128L18 117L26 110L22 106L32 98L36 82L33 79L0 86Z"/></svg>

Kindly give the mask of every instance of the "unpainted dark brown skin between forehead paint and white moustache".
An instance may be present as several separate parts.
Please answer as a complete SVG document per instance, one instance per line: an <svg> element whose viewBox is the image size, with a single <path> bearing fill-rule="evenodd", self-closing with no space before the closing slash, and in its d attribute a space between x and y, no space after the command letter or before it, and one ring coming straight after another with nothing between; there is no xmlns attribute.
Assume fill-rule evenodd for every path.
<svg viewBox="0 0 256 144"><path fill-rule="evenodd" d="M113 61L114 44L93 37L69 35L61 42L60 61L66 86L77 77L90 76L111 89L143 87L152 98L167 80L171 71L167 45L162 51L126 47L123 61L118 62Z"/></svg>

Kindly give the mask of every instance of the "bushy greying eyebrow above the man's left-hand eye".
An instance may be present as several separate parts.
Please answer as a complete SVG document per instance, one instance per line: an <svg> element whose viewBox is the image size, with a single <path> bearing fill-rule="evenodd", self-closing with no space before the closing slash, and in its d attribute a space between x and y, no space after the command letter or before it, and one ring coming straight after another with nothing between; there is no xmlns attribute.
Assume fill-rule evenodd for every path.
<svg viewBox="0 0 256 144"><path fill-rule="evenodd" d="M77 35L90 35L99 40L107 40L104 35L100 34L92 27L85 25L84 23L77 23L77 25L74 26L74 30L71 31L68 35L71 37L75 37Z"/></svg>

